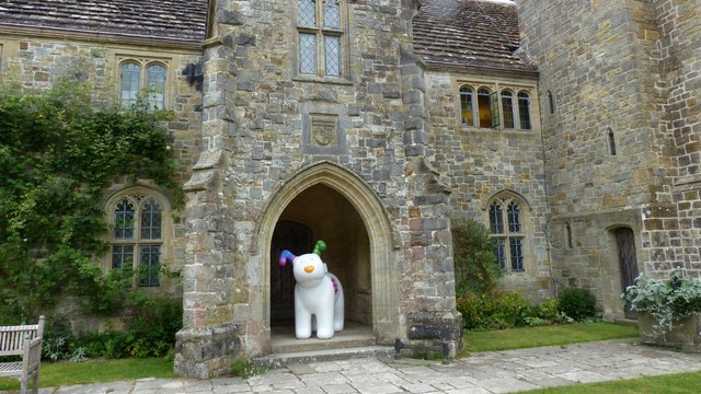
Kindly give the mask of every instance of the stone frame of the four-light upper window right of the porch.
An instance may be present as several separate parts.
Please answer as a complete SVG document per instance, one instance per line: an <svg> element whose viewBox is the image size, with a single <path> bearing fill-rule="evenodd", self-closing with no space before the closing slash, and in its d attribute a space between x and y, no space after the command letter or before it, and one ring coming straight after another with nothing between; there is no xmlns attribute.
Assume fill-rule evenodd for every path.
<svg viewBox="0 0 701 394"><path fill-rule="evenodd" d="M483 81L470 81L470 80L456 80L457 83L457 115L458 115L458 124L462 129L474 129L474 130L499 130L499 131L524 131L531 132L537 128L537 125L540 125L539 119L536 117L538 114L537 108L533 107L533 103L537 100L536 95L536 86L535 85L525 85L519 83L503 83L498 81L494 82L483 82ZM478 92L480 89L485 89L494 95L494 99L490 100L490 111L492 113L492 121L489 127L479 126L480 125L480 115L479 111L474 111L475 104L478 104ZM463 96L466 90L471 92L472 97L472 123L466 121L463 114L466 113L463 108ZM508 127L504 121L504 100L503 93L508 92L512 94L512 115L514 118L513 127ZM521 116L522 106L519 105L519 95L527 96L527 111L528 111L528 127L524 127L522 121L524 118ZM478 109L479 109L478 105ZM486 106L484 106L486 108ZM494 114L496 113L496 116Z"/></svg>

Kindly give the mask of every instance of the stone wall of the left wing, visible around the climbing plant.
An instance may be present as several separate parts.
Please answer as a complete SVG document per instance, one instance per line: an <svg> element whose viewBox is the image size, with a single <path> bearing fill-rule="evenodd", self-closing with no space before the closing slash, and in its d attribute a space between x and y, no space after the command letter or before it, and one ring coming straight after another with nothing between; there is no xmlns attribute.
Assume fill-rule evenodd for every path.
<svg viewBox="0 0 701 394"><path fill-rule="evenodd" d="M143 45L117 44L107 40L71 40L65 37L53 37L46 32L37 32L36 36L11 34L0 35L0 78L10 88L26 91L42 91L54 86L60 80L87 83L92 91L95 106L112 106L117 101L119 80L119 61L127 58L158 59L168 65L168 109L173 109L174 118L164 126L172 140L171 147L179 161L177 178L184 183L189 177L191 167L199 155L200 120L196 109L202 103L202 93L182 74L188 63L197 63L202 53L198 49L145 47ZM128 179L118 179L105 190L105 198L126 187L135 185L151 189L158 187L149 179L139 179L136 184ZM169 205L175 201L170 201ZM166 212L169 224L165 231L172 240L172 247L165 253L170 269L179 271L183 268L185 252L184 222L177 209ZM110 264L102 262L105 269ZM182 288L177 281L163 276L160 287L146 289L160 296L180 297ZM65 311L76 311L69 306ZM99 329L101 322L90 320L90 324L78 324L79 331Z"/></svg>

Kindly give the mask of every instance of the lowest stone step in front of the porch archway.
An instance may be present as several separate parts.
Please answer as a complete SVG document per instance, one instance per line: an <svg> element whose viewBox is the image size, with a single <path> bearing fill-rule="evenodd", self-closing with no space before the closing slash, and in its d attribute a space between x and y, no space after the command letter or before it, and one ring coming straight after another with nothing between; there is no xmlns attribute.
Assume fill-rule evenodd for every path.
<svg viewBox="0 0 701 394"><path fill-rule="evenodd" d="M363 346L342 349L308 350L284 354L272 354L253 359L256 367L289 367L321 361L337 361L355 358L393 357L394 348L390 346Z"/></svg>

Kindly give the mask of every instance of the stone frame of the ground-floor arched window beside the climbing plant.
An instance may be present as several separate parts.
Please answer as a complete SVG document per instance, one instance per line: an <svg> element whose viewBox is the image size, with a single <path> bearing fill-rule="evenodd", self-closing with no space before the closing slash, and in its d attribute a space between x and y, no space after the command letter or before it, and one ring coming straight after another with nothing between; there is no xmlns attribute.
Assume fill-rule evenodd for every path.
<svg viewBox="0 0 701 394"><path fill-rule="evenodd" d="M114 236L115 209L124 199L129 200L136 206L136 213L134 218L135 236L131 240L118 240ZM151 200L154 200L161 208L161 235L158 239L142 239L140 236L140 232L142 229L142 223L140 222L141 210L143 206ZM141 290L153 289L156 291L158 291L159 288L163 288L163 279L165 278L165 276L163 275L163 267L164 265L172 263L173 259L173 240L171 236L171 234L173 233L173 210L171 201L154 188L137 185L117 187L117 190L105 200L104 207L105 218L108 227L106 241L110 244L110 248L102 258L103 270L105 273L110 273L115 269L113 266L113 252L115 246L134 246L131 269L134 269L135 271L139 270L141 265L140 256L137 252L140 250L140 246L159 246L160 255L157 280L142 282L137 277L133 281L131 286L135 288L138 287Z"/></svg>

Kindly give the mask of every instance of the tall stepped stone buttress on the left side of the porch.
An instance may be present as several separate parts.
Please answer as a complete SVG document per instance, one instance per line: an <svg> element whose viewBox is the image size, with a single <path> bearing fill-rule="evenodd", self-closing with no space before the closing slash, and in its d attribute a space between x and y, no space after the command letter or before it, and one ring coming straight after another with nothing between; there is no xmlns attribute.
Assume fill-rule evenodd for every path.
<svg viewBox="0 0 701 394"><path fill-rule="evenodd" d="M217 22L222 25L235 26L240 20L237 12L217 12ZM230 190L222 186L227 147L231 146L228 136L234 127L229 103L235 89L237 54L230 31L222 31L226 33L215 32L205 43L203 152L185 184L184 315L183 329L176 335L175 372L199 379L227 372L233 357L242 351L240 331L233 322L233 208L226 193Z"/></svg>

